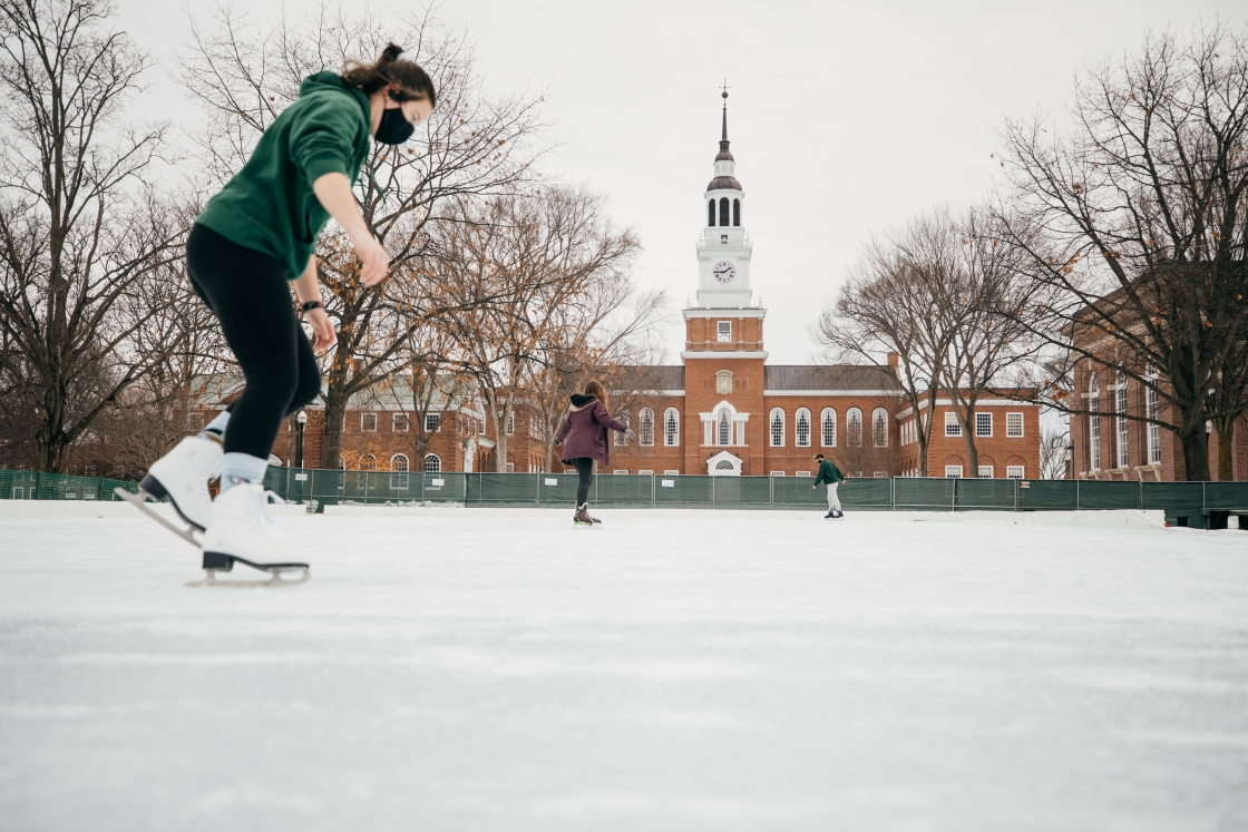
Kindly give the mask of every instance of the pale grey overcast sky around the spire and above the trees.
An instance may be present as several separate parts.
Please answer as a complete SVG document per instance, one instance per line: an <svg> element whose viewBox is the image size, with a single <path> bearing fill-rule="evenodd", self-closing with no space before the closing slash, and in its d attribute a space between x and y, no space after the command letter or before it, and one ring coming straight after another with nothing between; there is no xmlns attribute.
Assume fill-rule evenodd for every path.
<svg viewBox="0 0 1248 832"><path fill-rule="evenodd" d="M171 65L185 12L168 0L117 1L121 26ZM285 2L288 15L312 5ZM282 4L236 7L276 16ZM439 16L467 29L489 90L547 92L559 145L547 167L604 193L615 220L640 232L636 279L670 297L669 363L679 363L679 309L698 284L694 246L728 79L773 364L811 358L810 324L874 232L990 191L1005 117L1060 112L1077 72L1121 59L1149 27L1246 21L1243 0L458 0ZM160 70L152 81L150 95L177 95Z"/></svg>

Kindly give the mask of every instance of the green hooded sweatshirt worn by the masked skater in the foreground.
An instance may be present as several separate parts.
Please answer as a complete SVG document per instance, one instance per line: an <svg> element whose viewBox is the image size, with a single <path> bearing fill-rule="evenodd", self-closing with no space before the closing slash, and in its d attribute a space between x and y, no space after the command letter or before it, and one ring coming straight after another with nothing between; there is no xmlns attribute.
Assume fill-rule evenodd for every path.
<svg viewBox="0 0 1248 832"><path fill-rule="evenodd" d="M287 279L296 279L329 220L312 182L334 172L356 181L368 155L371 119L368 96L336 72L307 76L298 100L268 126L196 222L275 257Z"/></svg>

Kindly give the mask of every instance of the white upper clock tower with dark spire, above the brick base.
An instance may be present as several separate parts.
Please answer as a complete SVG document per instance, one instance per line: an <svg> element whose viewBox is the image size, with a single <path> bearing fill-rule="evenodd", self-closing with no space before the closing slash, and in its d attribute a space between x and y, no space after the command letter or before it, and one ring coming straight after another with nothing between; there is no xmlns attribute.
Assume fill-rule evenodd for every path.
<svg viewBox="0 0 1248 832"><path fill-rule="evenodd" d="M715 178L703 195L706 226L698 241L698 306L733 309L750 306L753 243L741 225L745 191L733 176L736 161L728 150L728 90L723 95L724 131L715 156Z"/></svg>

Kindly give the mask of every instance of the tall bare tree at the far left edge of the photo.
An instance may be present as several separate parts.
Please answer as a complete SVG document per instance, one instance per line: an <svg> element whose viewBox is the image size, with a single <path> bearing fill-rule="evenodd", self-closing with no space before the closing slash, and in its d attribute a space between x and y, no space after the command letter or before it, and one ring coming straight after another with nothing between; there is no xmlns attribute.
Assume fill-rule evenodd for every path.
<svg viewBox="0 0 1248 832"><path fill-rule="evenodd" d="M163 127L125 117L147 59L110 12L0 1L0 370L44 470L166 354L137 341L158 312L140 301L186 233L146 187Z"/></svg>

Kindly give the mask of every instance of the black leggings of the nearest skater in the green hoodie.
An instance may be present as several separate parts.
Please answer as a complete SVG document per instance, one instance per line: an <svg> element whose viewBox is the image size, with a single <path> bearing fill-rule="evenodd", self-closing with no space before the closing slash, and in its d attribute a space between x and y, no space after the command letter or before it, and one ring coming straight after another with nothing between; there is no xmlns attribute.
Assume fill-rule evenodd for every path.
<svg viewBox="0 0 1248 832"><path fill-rule="evenodd" d="M201 225L186 241L186 266L247 384L228 407L226 453L268 459L282 419L321 392L321 370L295 312L286 269Z"/></svg>

